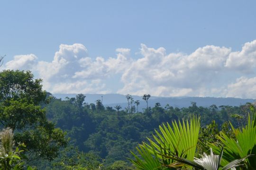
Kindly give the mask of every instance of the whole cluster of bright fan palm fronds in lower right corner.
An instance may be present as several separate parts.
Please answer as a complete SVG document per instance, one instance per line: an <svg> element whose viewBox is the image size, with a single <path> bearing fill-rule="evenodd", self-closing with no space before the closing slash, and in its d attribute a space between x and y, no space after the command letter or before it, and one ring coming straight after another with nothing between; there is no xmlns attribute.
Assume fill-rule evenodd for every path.
<svg viewBox="0 0 256 170"><path fill-rule="evenodd" d="M188 121L186 124L183 121L183 125L179 122L179 126L173 122L174 130L168 123L167 127L163 125L160 127L161 134L156 131L157 136L153 136L156 143L149 139L150 144L140 144L137 147L139 156L131 152L135 160L129 160L140 170L166 168L173 170L181 167L185 169L193 167L198 170L229 170L238 166L242 169L254 170L256 163L256 110L253 105L250 106L250 109L253 116L252 120L250 115L248 116L246 127L236 129L230 123L234 136L226 130L225 124L223 130L219 132L215 121L212 121L206 128L201 128L198 152L202 152L205 149L202 147L203 143L208 142L208 146L212 147L219 155L214 155L210 148L210 155L203 153L200 159L194 158L196 148L194 150L192 148L197 144L200 125L192 126L197 122L192 119L191 128L189 128ZM198 124L200 123L198 122ZM218 136L218 134L220 135ZM220 144L224 144L222 149L219 147ZM187 151L192 151L192 154Z"/></svg>

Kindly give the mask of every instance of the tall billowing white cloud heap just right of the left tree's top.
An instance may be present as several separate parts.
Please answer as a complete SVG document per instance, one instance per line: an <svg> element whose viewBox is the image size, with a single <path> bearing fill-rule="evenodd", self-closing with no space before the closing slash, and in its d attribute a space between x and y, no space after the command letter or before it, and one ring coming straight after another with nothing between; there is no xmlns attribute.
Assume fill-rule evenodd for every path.
<svg viewBox="0 0 256 170"><path fill-rule="evenodd" d="M88 57L82 44L62 44L54 60L38 62L37 70L52 93L107 93L110 90L99 79L110 76L112 68L108 64L102 57Z"/></svg>

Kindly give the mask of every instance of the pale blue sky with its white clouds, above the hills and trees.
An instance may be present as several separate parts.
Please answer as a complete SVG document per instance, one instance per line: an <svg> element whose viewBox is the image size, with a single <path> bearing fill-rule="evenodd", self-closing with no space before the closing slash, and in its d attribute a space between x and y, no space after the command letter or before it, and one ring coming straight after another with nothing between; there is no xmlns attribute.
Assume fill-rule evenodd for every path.
<svg viewBox="0 0 256 170"><path fill-rule="evenodd" d="M0 1L3 69L50 93L256 99L255 0Z"/></svg>

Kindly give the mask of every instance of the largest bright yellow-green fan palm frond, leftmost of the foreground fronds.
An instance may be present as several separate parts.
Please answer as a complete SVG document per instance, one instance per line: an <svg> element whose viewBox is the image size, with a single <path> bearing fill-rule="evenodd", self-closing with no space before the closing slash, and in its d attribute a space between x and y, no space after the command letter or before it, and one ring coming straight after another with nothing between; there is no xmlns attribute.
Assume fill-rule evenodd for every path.
<svg viewBox="0 0 256 170"><path fill-rule="evenodd" d="M173 128L172 128L173 127ZM159 126L160 132L153 135L155 142L148 139L150 144L140 144L137 151L142 159L132 153L136 160L132 161L140 170L162 170L163 164L173 164L174 159L163 157L163 155L173 154L177 157L193 160L196 152L196 144L200 130L200 118L192 117L190 121L172 122L172 127L167 123ZM182 167L183 165L181 165Z"/></svg>

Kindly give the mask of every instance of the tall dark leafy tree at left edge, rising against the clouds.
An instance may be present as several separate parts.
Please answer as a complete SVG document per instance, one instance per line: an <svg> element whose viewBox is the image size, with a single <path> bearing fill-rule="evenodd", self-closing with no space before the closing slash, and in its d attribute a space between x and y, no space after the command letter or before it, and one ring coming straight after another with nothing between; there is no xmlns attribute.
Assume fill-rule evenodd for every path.
<svg viewBox="0 0 256 170"><path fill-rule="evenodd" d="M67 141L40 106L49 102L41 82L30 71L0 72L0 123L15 131L14 140L27 145L30 157L53 160Z"/></svg>

